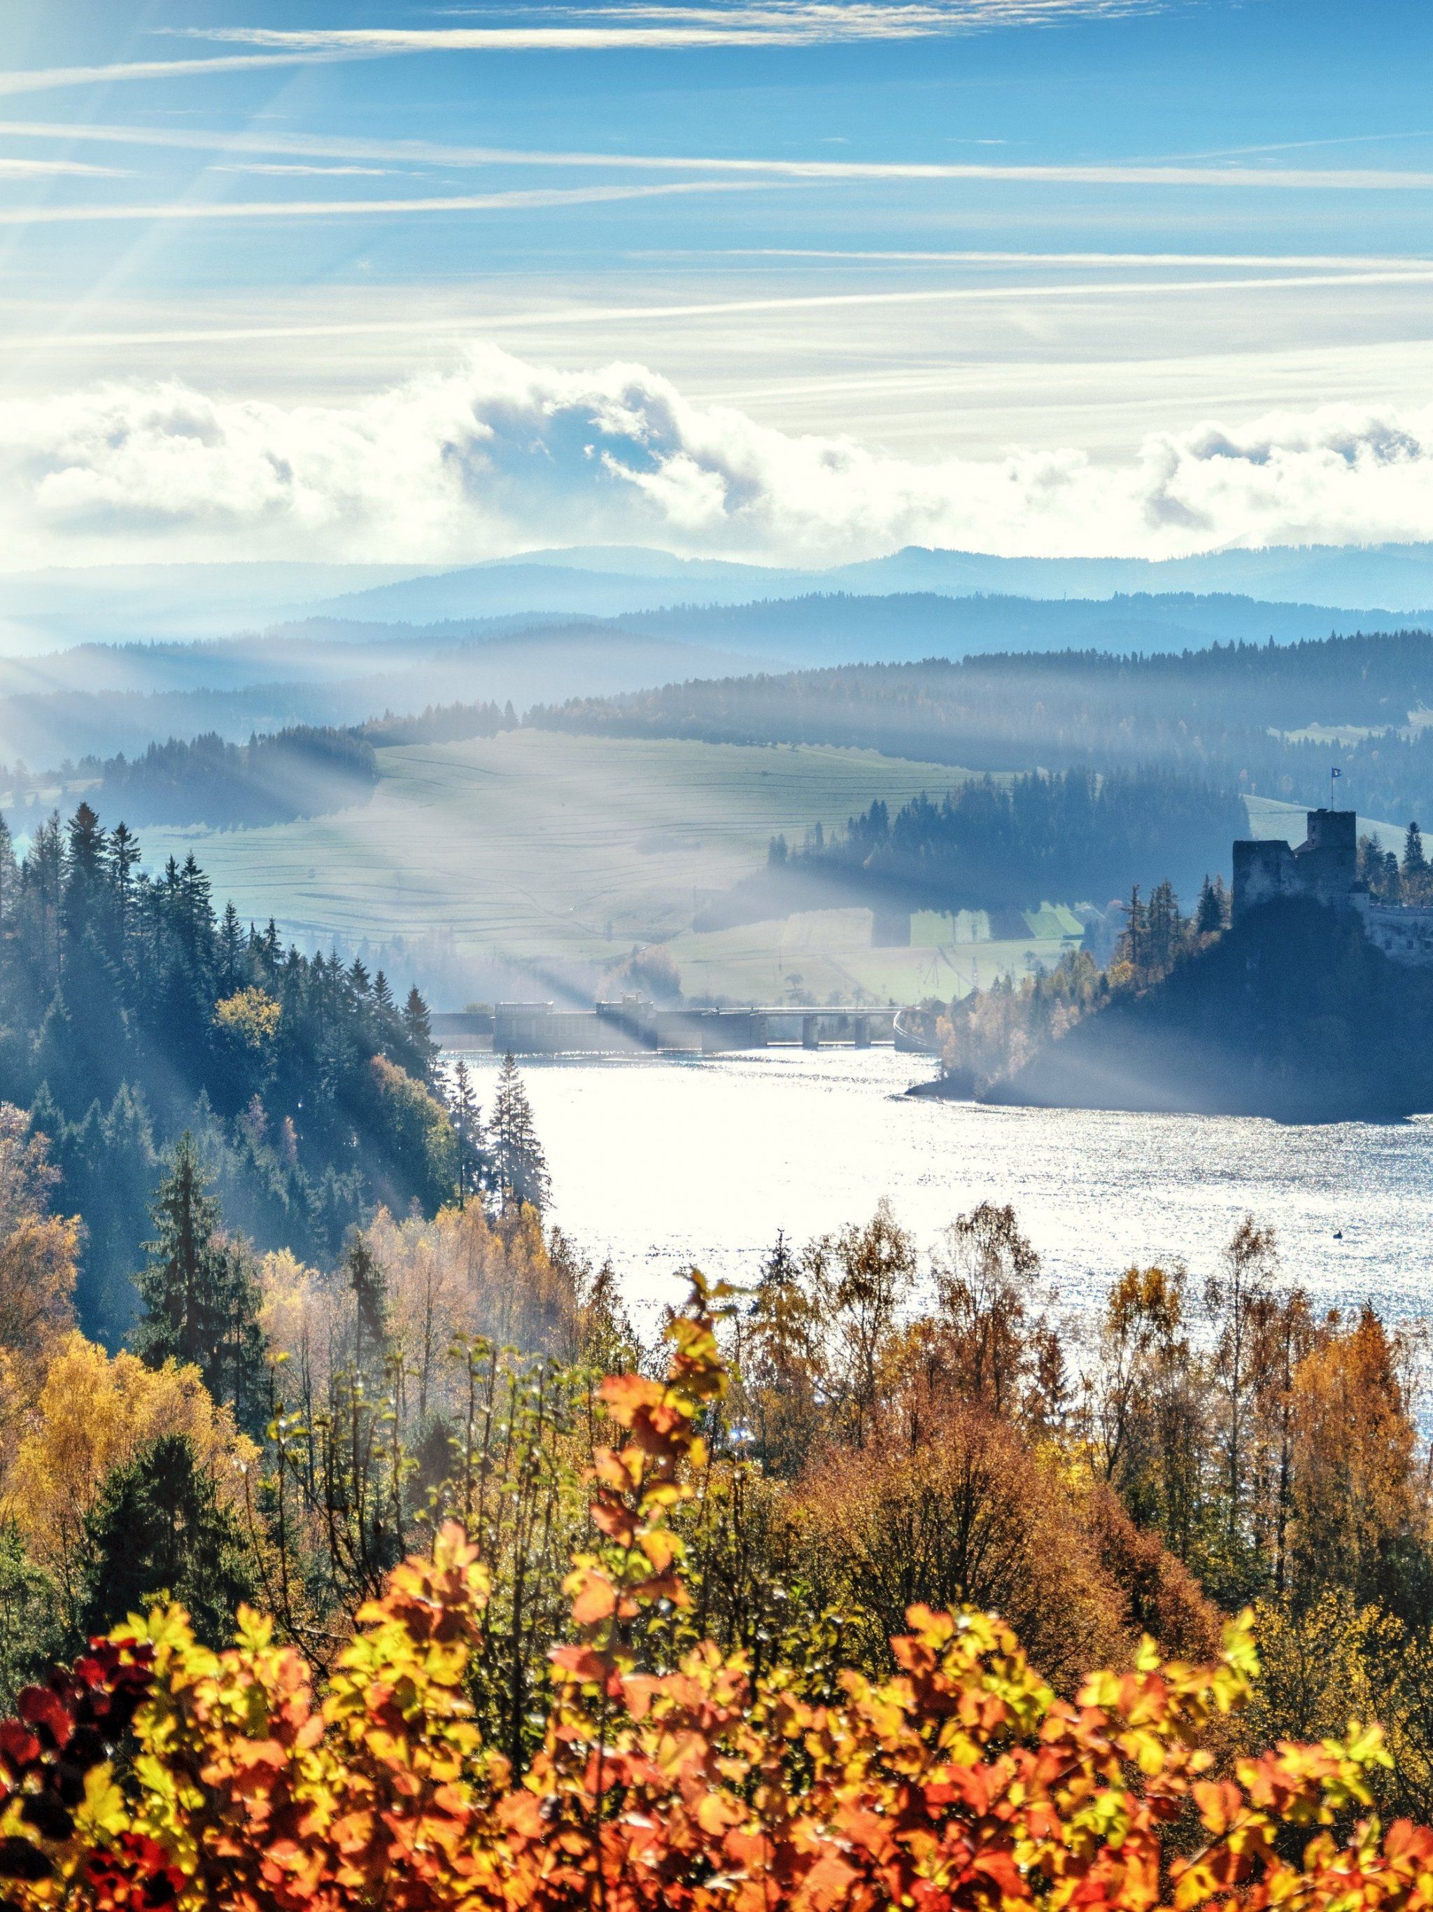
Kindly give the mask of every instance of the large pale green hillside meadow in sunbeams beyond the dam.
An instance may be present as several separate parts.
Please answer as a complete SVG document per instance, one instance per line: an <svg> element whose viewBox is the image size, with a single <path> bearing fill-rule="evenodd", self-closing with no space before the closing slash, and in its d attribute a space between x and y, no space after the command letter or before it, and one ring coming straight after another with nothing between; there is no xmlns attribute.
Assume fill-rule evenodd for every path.
<svg viewBox="0 0 1433 1912"><path fill-rule="evenodd" d="M860 750L543 730L378 757L363 809L264 830L151 828L145 862L193 849L216 899L304 937L451 931L480 958L606 962L686 929L694 897L760 864L776 832L799 841L818 820L938 795L965 774Z"/></svg>

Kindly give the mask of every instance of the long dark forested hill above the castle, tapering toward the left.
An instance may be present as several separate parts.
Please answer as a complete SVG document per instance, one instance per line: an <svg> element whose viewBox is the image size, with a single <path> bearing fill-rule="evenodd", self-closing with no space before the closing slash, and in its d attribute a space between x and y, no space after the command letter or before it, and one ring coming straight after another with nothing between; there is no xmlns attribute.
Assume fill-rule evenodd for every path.
<svg viewBox="0 0 1433 1912"><path fill-rule="evenodd" d="M1339 765L1370 816L1433 811L1433 635L1215 644L1177 656L1053 652L707 679L529 711L552 728L841 744L973 771L1137 765L1326 801ZM1307 738L1311 725L1370 736Z"/></svg>

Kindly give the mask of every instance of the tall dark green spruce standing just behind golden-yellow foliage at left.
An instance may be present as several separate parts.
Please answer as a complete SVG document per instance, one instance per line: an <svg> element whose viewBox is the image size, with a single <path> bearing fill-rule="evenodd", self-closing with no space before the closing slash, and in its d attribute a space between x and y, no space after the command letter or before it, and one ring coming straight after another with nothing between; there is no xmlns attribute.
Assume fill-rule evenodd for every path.
<svg viewBox="0 0 1433 1912"><path fill-rule="evenodd" d="M136 1287L145 1314L134 1350L149 1367L197 1367L241 1426L264 1421L264 1335L248 1254L222 1231L195 1138L185 1130L151 1205L155 1239Z"/></svg>

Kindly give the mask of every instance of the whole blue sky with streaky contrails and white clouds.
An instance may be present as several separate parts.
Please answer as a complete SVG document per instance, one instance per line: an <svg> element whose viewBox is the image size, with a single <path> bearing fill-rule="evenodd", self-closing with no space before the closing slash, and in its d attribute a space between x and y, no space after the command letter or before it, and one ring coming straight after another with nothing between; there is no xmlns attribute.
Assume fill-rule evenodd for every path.
<svg viewBox="0 0 1433 1912"><path fill-rule="evenodd" d="M11 0L4 562L1423 537L1431 42Z"/></svg>

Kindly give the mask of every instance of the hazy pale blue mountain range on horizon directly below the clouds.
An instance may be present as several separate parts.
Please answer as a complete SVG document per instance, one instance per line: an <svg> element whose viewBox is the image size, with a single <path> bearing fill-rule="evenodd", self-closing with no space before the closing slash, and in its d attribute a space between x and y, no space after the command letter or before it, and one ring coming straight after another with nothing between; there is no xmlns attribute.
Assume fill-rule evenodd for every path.
<svg viewBox="0 0 1433 1912"><path fill-rule="evenodd" d="M1219 551L1196 558L994 558L909 547L827 570L674 558L640 547L533 551L464 568L420 564L109 566L0 576L0 650L187 641L308 618L447 623L623 618L678 606L846 595L1114 600L1240 597L1362 619L1433 618L1433 543ZM1372 625L1368 625L1372 627Z"/></svg>

